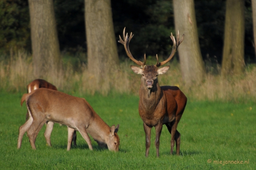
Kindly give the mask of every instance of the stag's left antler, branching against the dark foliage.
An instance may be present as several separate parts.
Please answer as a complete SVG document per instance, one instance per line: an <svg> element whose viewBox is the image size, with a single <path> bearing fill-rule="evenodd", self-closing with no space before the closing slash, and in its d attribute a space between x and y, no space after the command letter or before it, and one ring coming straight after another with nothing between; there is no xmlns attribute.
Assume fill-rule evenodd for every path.
<svg viewBox="0 0 256 170"><path fill-rule="evenodd" d="M128 37L128 33L126 33L126 36L125 36L125 27L124 27L124 32L123 32L123 36L124 36L124 41L121 39L120 35L119 35L119 41L121 44L124 45L124 49L128 55L128 57L133 61L135 62L136 64L140 65L141 67L143 67L145 64L146 64L146 54L144 55L144 62L141 62L141 61L138 61L136 59L134 59L134 57L132 56L132 53L130 52L130 49L129 49L129 42L131 41L133 35L132 35L132 32L130 34L130 39Z"/></svg>

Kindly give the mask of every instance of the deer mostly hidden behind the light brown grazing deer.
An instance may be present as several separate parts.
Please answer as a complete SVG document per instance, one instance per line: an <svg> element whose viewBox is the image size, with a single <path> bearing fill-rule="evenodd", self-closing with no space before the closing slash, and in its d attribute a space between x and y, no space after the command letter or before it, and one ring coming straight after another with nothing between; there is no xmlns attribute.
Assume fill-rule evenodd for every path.
<svg viewBox="0 0 256 170"><path fill-rule="evenodd" d="M48 81L43 80L43 79L33 80L27 86L28 93L30 93L33 90L39 89L39 88L58 90L56 88L56 86L54 86L53 84L51 84ZM27 112L26 121L28 120L28 117L29 117L29 114ZM45 129L45 132L44 132L44 137L46 139L46 143L47 143L48 146L52 146L52 144L51 144L51 133L52 133L53 125L54 125L54 122L50 122L50 121L46 122L46 129ZM76 146L76 131L74 132L74 136L73 136L72 141L74 142L74 146Z"/></svg>

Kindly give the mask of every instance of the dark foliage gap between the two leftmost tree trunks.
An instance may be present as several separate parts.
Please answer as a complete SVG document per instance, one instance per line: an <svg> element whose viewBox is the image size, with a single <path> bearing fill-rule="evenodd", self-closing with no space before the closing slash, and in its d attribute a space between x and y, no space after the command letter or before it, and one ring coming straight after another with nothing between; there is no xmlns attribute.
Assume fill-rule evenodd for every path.
<svg viewBox="0 0 256 170"><path fill-rule="evenodd" d="M70 53L86 50L84 0L53 0L60 50Z"/></svg>

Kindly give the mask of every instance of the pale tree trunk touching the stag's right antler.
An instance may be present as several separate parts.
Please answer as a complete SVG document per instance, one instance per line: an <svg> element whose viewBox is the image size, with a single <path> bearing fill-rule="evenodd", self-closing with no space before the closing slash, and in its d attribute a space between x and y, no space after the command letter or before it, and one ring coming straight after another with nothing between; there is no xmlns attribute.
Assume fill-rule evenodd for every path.
<svg viewBox="0 0 256 170"><path fill-rule="evenodd" d="M200 51L194 0L173 0L176 34L184 35L178 48L182 78L186 84L200 84L205 67Z"/></svg>

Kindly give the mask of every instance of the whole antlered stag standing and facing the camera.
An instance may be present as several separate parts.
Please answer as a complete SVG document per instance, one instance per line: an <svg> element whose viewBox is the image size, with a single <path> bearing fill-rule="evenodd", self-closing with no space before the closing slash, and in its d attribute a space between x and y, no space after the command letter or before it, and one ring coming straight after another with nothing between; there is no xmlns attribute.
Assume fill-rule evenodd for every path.
<svg viewBox="0 0 256 170"><path fill-rule="evenodd" d="M145 65L146 64L146 54L144 55L144 62L138 61L133 58L129 43L133 37L132 32L130 37L128 34L125 35L125 28L123 32L124 41L119 35L119 41L124 45L125 51L128 57L141 67L131 66L132 71L136 74L141 74L141 84L140 84L140 102L139 102L139 113L143 120L144 131L146 133L146 157L148 157L149 147L150 147L150 137L151 129L153 126L156 128L156 156L159 157L159 145L160 145L160 135L165 124L168 131L171 133L171 154L173 152L174 140L176 142L176 153L180 154L180 133L177 131L177 125L180 118L185 110L187 97L181 92L181 90L176 86L159 86L157 76L159 74L166 73L170 66L161 67L167 62L169 62L174 56L176 49L183 41L178 41L176 44L175 38L171 34L171 39L173 41L173 49L169 58L163 62L158 62L158 57L156 55L156 65Z"/></svg>

